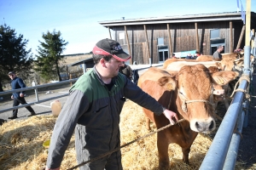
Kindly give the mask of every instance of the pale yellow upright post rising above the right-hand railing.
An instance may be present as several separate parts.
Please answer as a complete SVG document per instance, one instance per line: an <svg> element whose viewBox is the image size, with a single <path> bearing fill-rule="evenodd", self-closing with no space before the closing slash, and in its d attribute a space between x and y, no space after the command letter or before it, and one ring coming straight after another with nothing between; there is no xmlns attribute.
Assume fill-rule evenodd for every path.
<svg viewBox="0 0 256 170"><path fill-rule="evenodd" d="M247 10L246 10L246 46L250 46L251 42L251 0L247 0Z"/></svg>

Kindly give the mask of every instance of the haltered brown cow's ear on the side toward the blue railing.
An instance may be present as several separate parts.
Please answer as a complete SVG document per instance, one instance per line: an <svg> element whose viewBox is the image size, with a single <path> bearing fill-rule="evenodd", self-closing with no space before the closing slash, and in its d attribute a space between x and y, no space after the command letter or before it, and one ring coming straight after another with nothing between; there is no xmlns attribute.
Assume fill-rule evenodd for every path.
<svg viewBox="0 0 256 170"><path fill-rule="evenodd" d="M212 73L212 78L219 85L226 85L232 80L235 80L239 76L239 72L236 71L219 71Z"/></svg>

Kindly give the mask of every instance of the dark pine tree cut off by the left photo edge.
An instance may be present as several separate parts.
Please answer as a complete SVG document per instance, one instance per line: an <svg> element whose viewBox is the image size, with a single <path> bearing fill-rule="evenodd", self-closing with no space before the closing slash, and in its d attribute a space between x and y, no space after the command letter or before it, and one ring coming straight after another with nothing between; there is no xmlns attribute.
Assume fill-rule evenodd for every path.
<svg viewBox="0 0 256 170"><path fill-rule="evenodd" d="M15 29L6 24L0 26L0 82L10 80L9 71L15 71L22 78L31 73L33 59L31 49L26 50L27 42L23 35L16 35Z"/></svg>

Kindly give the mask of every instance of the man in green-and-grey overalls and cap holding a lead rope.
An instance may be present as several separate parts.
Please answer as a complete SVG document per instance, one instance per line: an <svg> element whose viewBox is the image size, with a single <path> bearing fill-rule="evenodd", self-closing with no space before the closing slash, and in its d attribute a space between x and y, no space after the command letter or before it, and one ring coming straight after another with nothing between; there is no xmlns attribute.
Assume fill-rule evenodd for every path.
<svg viewBox="0 0 256 170"><path fill-rule="evenodd" d="M78 164L102 156L120 146L119 114L125 98L164 114L171 123L176 113L166 110L154 98L119 73L123 61L131 59L119 42L102 39L92 50L95 66L70 88L70 95L55 123L50 139L46 170L58 170L75 129ZM132 117L131 117L132 118ZM123 169L120 150L80 169Z"/></svg>

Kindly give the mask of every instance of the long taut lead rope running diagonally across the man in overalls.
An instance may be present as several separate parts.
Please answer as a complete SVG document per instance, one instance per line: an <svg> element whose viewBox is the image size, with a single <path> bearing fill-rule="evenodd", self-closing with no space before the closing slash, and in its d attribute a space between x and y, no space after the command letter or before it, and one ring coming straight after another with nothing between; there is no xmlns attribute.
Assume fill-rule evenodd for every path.
<svg viewBox="0 0 256 170"><path fill-rule="evenodd" d="M184 121L184 119L180 119L180 120L178 120L177 122L175 122L175 124L178 124L179 122L183 122L183 121ZM175 124L173 124L173 125L175 125ZM166 125L166 127L160 127L159 129L157 129L156 131L154 131L154 132L152 132L152 133L148 133L148 134L144 135L143 137L140 137L140 138L138 138L138 139L132 140L131 142L128 142L127 144L124 144L124 145L122 145L122 146L119 146L119 147L116 148L116 149L113 149L113 150L108 151L107 153L102 154L102 156L97 156L97 157L95 157L95 158L93 158L93 159L90 159L89 161L84 161L84 162L80 163L80 164L77 165L77 166L68 168L67 170L73 170L73 169L78 168L78 167L81 167L81 166L83 166L83 165L85 165L85 164L87 164L87 163L89 163L89 162L91 162L91 161L96 161L96 160L98 160L98 159L101 159L102 157L108 156L108 155L112 154L113 152L115 152L115 151L117 151L117 150L120 150L121 148L124 148L125 146L128 146L128 145L130 145L130 144L132 144L132 143L135 143L135 142L137 142L137 141L140 140L140 139L147 138L148 136L150 136L150 135L152 135L152 134L154 134L154 133L158 133L158 132L160 132L160 131L162 131L162 130L168 128L168 127L171 127L171 126L173 126L173 125L172 125L172 124L168 124L168 125Z"/></svg>

